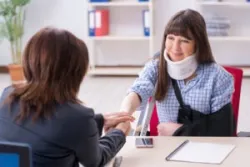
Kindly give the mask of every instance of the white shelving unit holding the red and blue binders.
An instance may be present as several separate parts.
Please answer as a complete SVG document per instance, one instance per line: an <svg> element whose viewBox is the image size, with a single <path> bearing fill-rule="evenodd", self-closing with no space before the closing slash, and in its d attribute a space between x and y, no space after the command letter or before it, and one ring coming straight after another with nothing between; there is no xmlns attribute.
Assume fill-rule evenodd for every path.
<svg viewBox="0 0 250 167"><path fill-rule="evenodd" d="M137 33L137 34L119 34L119 33L112 33L110 32L110 35L107 36L88 36L88 45L89 45L89 55L90 55L90 70L88 72L89 75L108 75L108 76L112 76L112 75L116 75L116 76L135 76L138 75L138 73L140 72L140 70L143 67L143 62L146 62L150 56L152 56L153 53L153 3L152 0L149 0L149 2L139 2L138 0L111 0L110 2L95 2L95 3L91 3L88 2L88 10L94 10L94 9L122 9L123 11L126 12L131 12L131 9L133 9L134 11L138 9L138 11L140 10L140 18L141 18L141 24L138 23L138 25L136 26L140 26L141 29L141 33ZM144 36L143 34L143 20L142 20L142 10L143 9L148 9L150 16L149 16L149 24L150 24L150 36ZM138 14L137 11L137 14ZM122 21L120 19L122 19L122 16L124 15L124 13L120 13L121 17L119 19L117 19L115 22L119 22ZM110 18L111 18L111 13L110 13ZM138 16L137 16L138 18ZM131 20L133 18L130 18ZM114 20L112 20L113 22ZM112 25L114 26L114 24ZM127 28L127 31L130 31L130 25L125 25ZM132 25L132 28L134 25ZM137 27L138 28L138 27ZM113 28L115 29L115 28ZM116 29L115 29L116 30ZM112 31L112 30L110 30ZM102 54L102 50L106 49L106 48L102 48L103 46L100 45L101 44L107 44L107 43L115 43L117 45L120 45L120 43L122 43L121 45L126 45L126 43L130 44L131 43L135 43L133 46L134 48L131 48L131 50L134 50L137 47L138 43L146 43L147 47L145 48L137 48L139 50L148 50L148 53L145 55L145 59L143 60L143 62L141 64L135 65L133 63L131 64L126 64L126 65L120 65L123 62L123 58L121 57L121 55L116 55L115 59L116 61L120 61L121 63L117 63L117 65L100 65L98 64L98 56L101 54L103 56L103 60L105 59L105 56L108 56L107 54ZM111 45L111 44L110 44ZM105 47L105 46L104 46ZM115 47L115 46L114 46ZM106 49L107 50L107 49ZM109 49L109 50L112 50ZM121 50L121 52L126 52L126 50ZM136 54L134 55L136 56ZM131 55L131 61L133 61L133 56Z"/></svg>

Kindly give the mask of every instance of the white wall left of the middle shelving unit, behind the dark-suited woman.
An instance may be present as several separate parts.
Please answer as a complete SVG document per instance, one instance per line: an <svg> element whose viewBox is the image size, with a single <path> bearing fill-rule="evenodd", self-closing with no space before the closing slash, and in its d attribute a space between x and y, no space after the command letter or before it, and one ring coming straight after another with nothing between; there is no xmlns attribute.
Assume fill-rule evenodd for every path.
<svg viewBox="0 0 250 167"><path fill-rule="evenodd" d="M31 0L27 9L24 44L44 26L65 28L80 37L87 33L85 0ZM9 45L0 44L0 65L11 62Z"/></svg>

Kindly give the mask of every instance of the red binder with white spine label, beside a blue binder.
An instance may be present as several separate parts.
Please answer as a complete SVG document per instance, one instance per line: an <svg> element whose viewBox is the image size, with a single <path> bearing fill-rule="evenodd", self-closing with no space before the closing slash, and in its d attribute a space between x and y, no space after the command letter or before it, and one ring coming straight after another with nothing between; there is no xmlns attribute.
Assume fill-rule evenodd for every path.
<svg viewBox="0 0 250 167"><path fill-rule="evenodd" d="M95 35L103 36L109 34L109 11L96 10L95 11Z"/></svg>

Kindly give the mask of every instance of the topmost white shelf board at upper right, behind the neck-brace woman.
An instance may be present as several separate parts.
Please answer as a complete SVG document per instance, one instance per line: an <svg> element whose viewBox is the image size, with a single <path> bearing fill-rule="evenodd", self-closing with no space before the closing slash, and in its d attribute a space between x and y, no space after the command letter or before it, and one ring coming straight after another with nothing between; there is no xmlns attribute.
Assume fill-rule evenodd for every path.
<svg viewBox="0 0 250 167"><path fill-rule="evenodd" d="M234 6L250 7L250 2L197 2L199 5L206 6Z"/></svg>

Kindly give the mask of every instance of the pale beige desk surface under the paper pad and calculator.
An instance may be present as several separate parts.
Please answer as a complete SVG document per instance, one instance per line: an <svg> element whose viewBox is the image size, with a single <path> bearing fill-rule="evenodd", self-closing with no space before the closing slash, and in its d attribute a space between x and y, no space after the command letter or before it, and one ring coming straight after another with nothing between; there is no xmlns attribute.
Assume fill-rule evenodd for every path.
<svg viewBox="0 0 250 167"><path fill-rule="evenodd" d="M190 141L234 144L236 145L236 148L220 165L166 161L165 157L186 139L189 139ZM117 156L123 157L121 167L249 167L249 151L250 138L154 137L154 148L136 148L135 137L127 137L125 146Z"/></svg>

